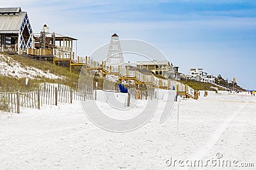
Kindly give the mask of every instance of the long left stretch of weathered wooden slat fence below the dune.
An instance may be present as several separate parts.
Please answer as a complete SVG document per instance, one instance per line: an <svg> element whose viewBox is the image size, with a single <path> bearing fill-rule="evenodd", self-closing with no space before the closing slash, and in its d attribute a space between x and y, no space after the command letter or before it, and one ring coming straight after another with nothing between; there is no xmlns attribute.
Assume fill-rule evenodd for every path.
<svg viewBox="0 0 256 170"><path fill-rule="evenodd" d="M40 109L45 104L72 103L72 101L93 100L93 87L84 90L72 89L65 85L45 84L33 92L0 92L0 110L20 113L20 107Z"/></svg>

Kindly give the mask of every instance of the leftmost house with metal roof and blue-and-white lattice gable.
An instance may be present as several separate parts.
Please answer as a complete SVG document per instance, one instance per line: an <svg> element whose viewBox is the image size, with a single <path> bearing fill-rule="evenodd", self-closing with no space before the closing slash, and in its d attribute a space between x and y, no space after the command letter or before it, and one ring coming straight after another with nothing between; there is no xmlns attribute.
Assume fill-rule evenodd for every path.
<svg viewBox="0 0 256 170"><path fill-rule="evenodd" d="M0 50L22 53L34 47L28 13L21 8L0 8Z"/></svg>

